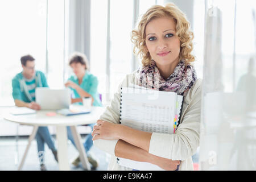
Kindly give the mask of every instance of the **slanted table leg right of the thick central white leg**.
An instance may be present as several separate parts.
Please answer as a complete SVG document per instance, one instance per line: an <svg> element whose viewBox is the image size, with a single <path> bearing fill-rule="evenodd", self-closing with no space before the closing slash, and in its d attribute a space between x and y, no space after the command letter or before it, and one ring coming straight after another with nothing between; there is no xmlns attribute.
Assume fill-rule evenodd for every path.
<svg viewBox="0 0 256 182"><path fill-rule="evenodd" d="M79 157L80 157L80 160L82 162L82 167L84 167L85 169L90 170L90 164L88 162L88 158L87 158L87 155L85 153L84 146L81 142L81 135L77 132L76 126L70 126L70 128L71 128L72 135L73 135L73 138L74 138L75 143L76 143L77 150L79 151Z"/></svg>

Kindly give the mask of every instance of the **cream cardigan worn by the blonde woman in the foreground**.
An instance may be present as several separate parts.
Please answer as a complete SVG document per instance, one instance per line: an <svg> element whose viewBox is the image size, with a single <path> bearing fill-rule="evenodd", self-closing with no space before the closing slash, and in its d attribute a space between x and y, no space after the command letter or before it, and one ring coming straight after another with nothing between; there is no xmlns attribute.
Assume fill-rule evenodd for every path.
<svg viewBox="0 0 256 182"><path fill-rule="evenodd" d="M114 94L110 105L101 115L100 119L112 123L120 123L119 107L121 87L129 84L138 85L137 73L133 72L125 77ZM200 141L200 117L201 117L201 79L184 93L184 104L181 113L181 123L175 134L152 133L149 153L172 160L181 160L179 170L193 170L192 155L196 153ZM131 168L119 166L116 162L115 144L118 140L94 140L94 146L112 155L108 170L131 170Z"/></svg>

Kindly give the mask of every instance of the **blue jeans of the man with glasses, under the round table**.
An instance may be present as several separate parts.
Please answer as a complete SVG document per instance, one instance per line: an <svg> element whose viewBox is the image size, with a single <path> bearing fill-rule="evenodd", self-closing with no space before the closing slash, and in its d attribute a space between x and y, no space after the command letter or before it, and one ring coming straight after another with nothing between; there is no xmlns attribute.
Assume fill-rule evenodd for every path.
<svg viewBox="0 0 256 182"><path fill-rule="evenodd" d="M44 143L47 143L48 147L52 151L56 151L54 140L49 133L48 127L40 126L38 127L38 132L36 133L36 142L38 144L38 156L40 160L40 164L44 164Z"/></svg>

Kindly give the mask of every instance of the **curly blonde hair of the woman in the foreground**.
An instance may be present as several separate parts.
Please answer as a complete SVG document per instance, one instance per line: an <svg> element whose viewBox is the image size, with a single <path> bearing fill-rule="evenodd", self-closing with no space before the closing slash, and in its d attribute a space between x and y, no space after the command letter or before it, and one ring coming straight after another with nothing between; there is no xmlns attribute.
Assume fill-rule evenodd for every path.
<svg viewBox="0 0 256 182"><path fill-rule="evenodd" d="M137 27L131 32L131 42L134 43L133 52L137 57L141 57L143 66L150 65L152 59L146 47L145 29L152 19L163 17L174 18L176 35L180 40L179 61L185 60L186 65L191 64L195 61L195 56L191 54L194 35L190 29L190 23L186 15L173 3L168 3L166 6L154 5L142 15Z"/></svg>

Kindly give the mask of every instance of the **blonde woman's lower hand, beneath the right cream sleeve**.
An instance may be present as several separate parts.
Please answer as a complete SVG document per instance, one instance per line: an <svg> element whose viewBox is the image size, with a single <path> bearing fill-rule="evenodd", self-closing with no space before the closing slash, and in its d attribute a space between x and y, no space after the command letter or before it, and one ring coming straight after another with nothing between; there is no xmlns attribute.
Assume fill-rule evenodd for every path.
<svg viewBox="0 0 256 182"><path fill-rule="evenodd" d="M180 160L171 160L152 155L150 163L155 164L167 171L175 171L177 166L180 164Z"/></svg>

